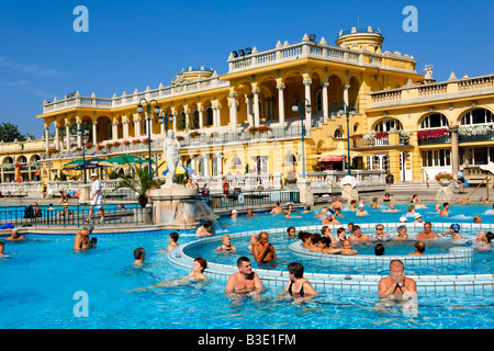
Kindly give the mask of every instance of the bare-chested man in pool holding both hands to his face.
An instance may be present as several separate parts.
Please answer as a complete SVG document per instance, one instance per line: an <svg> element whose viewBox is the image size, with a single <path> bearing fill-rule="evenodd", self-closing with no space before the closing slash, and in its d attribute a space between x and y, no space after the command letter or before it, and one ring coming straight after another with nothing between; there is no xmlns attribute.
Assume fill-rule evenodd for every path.
<svg viewBox="0 0 494 351"><path fill-rule="evenodd" d="M390 262L390 275L379 281L379 296L393 298L411 298L417 296L417 285L405 276L405 268L400 260Z"/></svg>

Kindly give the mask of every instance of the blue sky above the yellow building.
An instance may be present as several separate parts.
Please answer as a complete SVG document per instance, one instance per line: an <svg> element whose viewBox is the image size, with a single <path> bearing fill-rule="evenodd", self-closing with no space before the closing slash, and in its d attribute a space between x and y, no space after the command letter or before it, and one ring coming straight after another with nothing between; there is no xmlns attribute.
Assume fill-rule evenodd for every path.
<svg viewBox="0 0 494 351"><path fill-rule="evenodd" d="M77 5L89 10L89 33L76 33ZM404 7L418 10L406 33ZM413 55L436 80L494 72L494 1L2 1L0 123L42 136L43 100L66 93L111 98L168 86L182 68L227 72L232 50L299 43L304 33L329 45L340 30L381 29L383 50Z"/></svg>

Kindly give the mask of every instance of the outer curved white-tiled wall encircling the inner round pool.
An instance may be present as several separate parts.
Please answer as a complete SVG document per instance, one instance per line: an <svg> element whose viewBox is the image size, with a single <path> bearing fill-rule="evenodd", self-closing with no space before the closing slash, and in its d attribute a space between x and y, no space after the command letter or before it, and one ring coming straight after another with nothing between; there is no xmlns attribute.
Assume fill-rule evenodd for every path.
<svg viewBox="0 0 494 351"><path fill-rule="evenodd" d="M360 227L363 228L374 228L377 224L363 224L360 225ZM403 224L390 224L386 223L386 229L391 228L397 228L400 225ZM433 230L442 233L449 229L450 223L436 223L434 224ZM479 228L481 225L472 224L469 226L471 229ZM302 227L295 227L296 231L312 231L312 233L321 233L321 228L323 226L302 226ZM329 226L333 229L337 229L341 227L341 225L334 225ZM423 228L424 224L422 223L411 223L406 224L407 228ZM482 225L482 230L493 230L494 225ZM244 231L244 233L236 233L231 234L232 239L239 239L239 238L250 238L252 235L258 235L261 230L251 230L251 231ZM277 229L266 229L263 231L267 231L269 235L271 234L278 234L278 235L287 235L285 228L277 228ZM366 230L362 230L366 231ZM390 236L393 235L393 233L390 233ZM394 230L396 231L396 230ZM175 249L172 249L169 252L169 261L180 268L183 268L186 270L191 270L194 258L187 254L187 252L197 247L201 247L207 244L212 242L221 242L221 237L209 237L203 239L198 239L188 244L179 245ZM462 250L460 250L462 251ZM306 250L306 252L310 252ZM462 252L461 256L470 256L469 250L465 250L465 252ZM311 252L312 253L312 252ZM471 252L473 253L473 252ZM451 252L449 253L451 254ZM447 254L431 254L429 257L445 257ZM390 259L392 256L386 257L386 260ZM397 258L404 258L403 256L394 256ZM427 257L427 256L426 256ZM473 254L472 254L473 257ZM467 259L465 259L467 260ZM428 264L434 264L434 262L437 261L437 259L433 259L430 261L427 261ZM356 261L357 262L357 261ZM417 261L422 262L422 261ZM364 263L364 261L361 261L361 263ZM444 261L441 262L444 264ZM454 264L454 263L452 263ZM463 263L468 264L468 263ZM262 284L267 287L272 288L284 288L287 285L287 282L289 281L289 275L287 270L278 271L278 270L263 270L263 269L252 269L262 281ZM406 265L405 265L406 271ZM218 280L226 283L228 278L235 273L238 272L238 269L236 265L231 264L220 264L214 262L207 262L207 269L205 270L205 274L207 278L212 280ZM479 293L482 294L484 292L492 293L494 290L494 274L463 274L463 275L407 275L408 278L412 278L415 280L417 284L417 292L418 294L426 294L426 293L448 293L448 294L456 294L456 293ZM324 274L324 273L310 273L305 272L304 278L306 278L311 284L314 286L316 291L319 292L329 292L329 293L338 293L338 292L356 292L356 293L371 293L371 294L378 294L378 285L379 281L382 278L382 275L377 274Z"/></svg>

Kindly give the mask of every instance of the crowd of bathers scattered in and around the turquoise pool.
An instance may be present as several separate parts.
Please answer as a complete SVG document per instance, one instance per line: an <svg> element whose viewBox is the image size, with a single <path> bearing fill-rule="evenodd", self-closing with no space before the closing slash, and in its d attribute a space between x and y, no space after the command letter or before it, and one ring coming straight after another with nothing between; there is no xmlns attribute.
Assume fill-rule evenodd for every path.
<svg viewBox="0 0 494 351"><path fill-rule="evenodd" d="M96 183L96 174L93 177L93 190L91 191L91 211L92 207L99 208L99 201L96 200L101 192L101 188L98 189L98 183ZM487 201L487 200L485 200ZM382 202L385 205L379 203L378 197L372 199L372 203L370 205L370 211L379 210L383 212L398 212L398 210L394 206L394 200L390 194L385 194L382 199ZM330 204L324 206L319 212L313 213L311 206L305 206L303 211L294 208L293 205L289 205L287 208L280 206L279 202L274 203L273 208L269 212L270 214L280 214L284 215L284 218L290 219L294 217L292 213L296 213L297 211L301 214L314 214L315 220L321 220L323 227L321 233L307 233L307 231L299 231L296 233L295 227L289 226L287 228L288 238L299 238L302 241L303 248L307 249L311 252L322 252L326 254L341 254L341 256L355 256L359 254L359 245L361 242L371 242L374 246L374 254L375 256L384 256L385 254L385 246L384 244L389 240L413 240L413 252L409 252L408 256L423 256L425 253L426 244L431 240L438 239L440 237L450 237L451 241L462 240L463 236L460 234L461 226L459 224L451 224L450 228L444 233L436 233L433 230L433 224L430 222L423 222L422 215L416 212L417 208L426 208L426 206L422 203L422 200L414 195L407 207L407 214L400 218L402 223L396 228L396 234L390 235L385 230L385 226L383 224L378 224L374 227L374 233L362 233L362 228L355 223L348 223L346 227L341 225L340 220L344 215L341 214L343 203L340 199L332 202ZM489 201L487 201L489 203ZM356 213L357 217L368 216L369 213L364 210L363 201L358 203L357 201L351 201L349 211ZM34 207L35 210L36 207ZM66 215L66 208L60 213L60 215ZM435 211L439 216L449 216L450 204L444 203L442 207L436 206ZM236 218L239 215L238 211L234 210L232 212L232 217ZM92 213L91 213L92 216ZM251 208L247 211L245 214L246 217L255 217L256 214L252 213ZM103 218L103 213L101 213L101 217ZM407 234L407 227L405 223L407 218L413 217L414 222L423 223L424 229L418 233L413 238ZM473 218L474 223L482 223L480 216L475 216ZM339 226L336 229L336 233L332 233L330 225ZM82 229L76 234L74 240L74 250L83 251L97 246L97 238L91 238L93 226L90 222L88 222ZM207 237L215 235L215 228L211 220L204 222L195 231L195 236L198 238ZM478 248L487 250L491 247L491 241L494 237L494 234L491 231L481 230L475 239L475 242L479 244ZM12 228L11 235L5 238L5 240L25 240L19 234L16 228ZM169 252L176 247L179 246L179 234L177 231L172 231L168 236L168 246L161 252ZM4 252L4 241L0 241L0 258L8 257ZM221 245L214 249L215 252L236 252L237 248L232 244L232 237L228 234L224 234L221 238ZM269 234L267 231L260 231L258 235L254 235L250 237L250 242L248 245L248 251L251 253L254 261L257 263L257 268L262 267L277 267L281 261L277 257L276 248L271 242L269 242ZM137 248L134 250L134 262L133 264L136 267L143 265L146 258L146 252L144 248ZM207 268L207 261L202 257L198 257L194 259L194 264L192 268L192 272L190 272L186 278L166 281L155 284L148 287L139 287L133 291L142 291L149 290L160 286L170 286L190 282L198 282L206 280L204 275L204 270ZM251 261L248 257L242 256L237 260L237 269L238 272L235 272L229 276L225 286L225 294L228 296L234 295L250 295L256 296L259 295L263 291L262 282L259 279L258 274L254 272ZM296 298L312 298L317 295L317 292L308 282L307 279L304 278L304 267L300 262L290 262L287 267L288 269L288 283L280 294L282 296L290 296ZM379 282L379 296L381 297L412 297L417 295L416 283L413 279L405 276L404 274L404 264L401 260L391 260L390 262L390 274L383 276Z"/></svg>

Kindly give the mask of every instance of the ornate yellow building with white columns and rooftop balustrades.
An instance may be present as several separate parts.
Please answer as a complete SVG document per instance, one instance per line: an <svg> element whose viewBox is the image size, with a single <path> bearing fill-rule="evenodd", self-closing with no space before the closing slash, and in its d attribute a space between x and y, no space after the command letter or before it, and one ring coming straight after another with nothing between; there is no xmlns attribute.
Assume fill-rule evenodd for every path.
<svg viewBox="0 0 494 351"><path fill-rule="evenodd" d="M54 137L44 139L42 177L81 158L82 148L87 158L147 158L149 137L161 176L168 129L180 139L182 163L203 177L247 172L285 179L290 171L300 177L303 168L308 173L344 169L345 162L321 159L346 157L348 139L352 169L383 169L395 181L494 160L494 76L452 75L436 82L430 71L417 73L413 56L384 50L383 35L371 27L340 32L335 43L304 35L300 43L278 42L266 52L233 52L224 75L189 67L167 87L45 102L37 117L45 136ZM138 104L144 113L137 113ZM87 134L77 135L82 127Z"/></svg>

